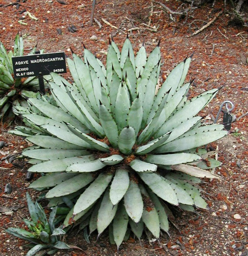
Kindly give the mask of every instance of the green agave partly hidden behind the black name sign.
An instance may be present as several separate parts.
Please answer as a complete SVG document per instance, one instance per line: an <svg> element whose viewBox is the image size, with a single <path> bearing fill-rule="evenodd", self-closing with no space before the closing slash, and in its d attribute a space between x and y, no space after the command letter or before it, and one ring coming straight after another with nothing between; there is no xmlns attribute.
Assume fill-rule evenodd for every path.
<svg viewBox="0 0 248 256"><path fill-rule="evenodd" d="M29 54L34 54L35 50L36 46ZM14 71L11 57L22 56L23 51L23 40L22 36L19 36L19 34L15 37L13 51L9 51L9 53L7 53L4 45L0 42L0 117L4 116L10 109L11 103L15 100L16 95L18 95L20 91L39 89L37 77L29 77L27 79L13 78Z"/></svg>

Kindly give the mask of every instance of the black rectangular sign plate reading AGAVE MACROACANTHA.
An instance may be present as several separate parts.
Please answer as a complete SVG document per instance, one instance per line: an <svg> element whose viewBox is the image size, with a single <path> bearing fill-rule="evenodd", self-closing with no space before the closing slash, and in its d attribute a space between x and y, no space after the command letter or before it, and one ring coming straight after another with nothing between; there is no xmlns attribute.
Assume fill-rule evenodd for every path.
<svg viewBox="0 0 248 256"><path fill-rule="evenodd" d="M15 78L44 76L50 72L66 73L64 52L12 57L12 63Z"/></svg>

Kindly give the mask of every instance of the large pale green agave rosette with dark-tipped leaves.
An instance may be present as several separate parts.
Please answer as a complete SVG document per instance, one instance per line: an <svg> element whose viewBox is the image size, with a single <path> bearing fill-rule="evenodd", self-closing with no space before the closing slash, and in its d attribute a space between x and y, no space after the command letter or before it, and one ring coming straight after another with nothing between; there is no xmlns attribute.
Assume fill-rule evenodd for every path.
<svg viewBox="0 0 248 256"><path fill-rule="evenodd" d="M29 98L16 106L29 127L11 133L34 144L22 155L33 158L30 172L46 175L30 188L48 189L50 205L65 197L75 202L64 226L75 221L98 235L109 227L119 245L130 230L159 238L168 232L168 205L194 211L206 208L199 178L219 178L205 169L219 162L198 147L227 134L219 124L196 116L219 89L187 99L184 80L191 57L179 63L156 94L159 44L135 57L127 38L120 52L109 42L106 68L89 50L84 61L67 59L73 83L51 73L52 97ZM201 167L201 168L200 168ZM128 233L129 232L129 233Z"/></svg>

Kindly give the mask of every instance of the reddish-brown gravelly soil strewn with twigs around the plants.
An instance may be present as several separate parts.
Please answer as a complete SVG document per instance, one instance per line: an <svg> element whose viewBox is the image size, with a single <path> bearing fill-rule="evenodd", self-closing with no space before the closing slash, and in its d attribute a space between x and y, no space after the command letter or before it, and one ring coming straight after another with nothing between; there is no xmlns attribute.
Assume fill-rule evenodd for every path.
<svg viewBox="0 0 248 256"><path fill-rule="evenodd" d="M213 123L223 101L231 100L234 104L231 113L236 116L236 121L232 123L230 135L211 144L214 149L219 149L218 160L223 162L215 171L222 180L205 179L201 184L210 210L197 210L195 214L175 209L173 222L177 228L170 225L170 237L163 234L159 242L149 243L145 237L138 241L131 236L120 246L119 255L248 255L248 32L228 23L227 10L230 6L224 10L224 1L216 1L213 7L210 2L201 9L177 15L169 13L162 5L171 11L186 10L190 5L175 0L164 0L160 4L150 0L101 0L96 1L94 15L100 26L96 21L90 26L92 1L60 2L21 0L19 5L9 5L9 0L1 0L0 40L6 49L13 47L13 39L19 32L24 38L25 54L38 43L38 48L44 48L45 52L65 51L70 56L71 47L75 53L82 55L84 43L100 60L106 62L108 37L111 34L121 49L128 32L135 51L145 38L147 52L157 45L160 38L161 83L177 63L195 52L186 78L195 79L190 97L224 86L200 115L207 115L207 122ZM27 12L21 13L24 10L37 20ZM210 26L191 37L193 32L211 21L220 10L223 13ZM68 30L71 25L77 28L76 32ZM93 35L95 38L91 38ZM217 123L222 122L222 116L221 113ZM15 126L15 122L9 125L9 122L2 121L0 127L0 140L6 143L0 151L1 256L27 253L25 241L5 232L9 227L24 228L22 217L28 217L25 198L29 185L26 180L28 166L16 161L10 163L9 158L5 159L6 156L20 153L27 146L22 138L7 133L8 129ZM11 194L4 193L7 183L12 185ZM39 195L32 190L29 193L34 199ZM7 212L2 207L7 207ZM117 247L109 244L107 233L98 241L94 234L90 238L91 244L86 243L83 233L77 236L76 233L77 230L69 233L66 242L81 247L84 252L60 251L56 255L118 255Z"/></svg>

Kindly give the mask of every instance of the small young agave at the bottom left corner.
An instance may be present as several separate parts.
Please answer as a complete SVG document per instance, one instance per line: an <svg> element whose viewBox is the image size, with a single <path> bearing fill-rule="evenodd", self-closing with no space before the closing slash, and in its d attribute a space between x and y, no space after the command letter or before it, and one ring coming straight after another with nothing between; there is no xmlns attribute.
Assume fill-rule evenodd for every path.
<svg viewBox="0 0 248 256"><path fill-rule="evenodd" d="M41 205L37 201L34 203L28 193L26 197L31 220L23 219L23 221L30 232L21 228L6 229L6 232L31 243L29 244L31 249L26 256L36 255L41 250L47 250L47 254L52 255L59 249L79 249L60 241L61 236L66 232L61 228L55 228L57 207L53 208L47 221L45 211Z"/></svg>

